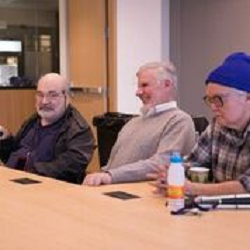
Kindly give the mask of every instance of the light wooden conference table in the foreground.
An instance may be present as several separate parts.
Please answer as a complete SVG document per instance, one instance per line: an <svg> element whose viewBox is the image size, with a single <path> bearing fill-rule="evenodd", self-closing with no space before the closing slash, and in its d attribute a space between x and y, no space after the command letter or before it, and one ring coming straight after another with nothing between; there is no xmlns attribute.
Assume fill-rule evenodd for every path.
<svg viewBox="0 0 250 250"><path fill-rule="evenodd" d="M23 177L41 183L12 181ZM148 183L85 187L0 167L0 249L250 249L250 211L172 216L164 204Z"/></svg>

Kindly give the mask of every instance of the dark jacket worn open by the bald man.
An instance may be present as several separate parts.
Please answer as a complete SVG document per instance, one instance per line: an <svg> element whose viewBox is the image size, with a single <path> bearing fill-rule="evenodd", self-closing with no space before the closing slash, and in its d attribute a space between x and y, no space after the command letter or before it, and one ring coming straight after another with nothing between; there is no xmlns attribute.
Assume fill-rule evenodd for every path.
<svg viewBox="0 0 250 250"><path fill-rule="evenodd" d="M37 119L39 119L38 114L33 114L23 123L16 136L0 142L0 158L4 163L7 162L11 152L18 148L20 141ZM94 137L85 119L72 105L68 106L62 119L63 125L55 143L53 160L35 162L31 172L81 184L93 155Z"/></svg>

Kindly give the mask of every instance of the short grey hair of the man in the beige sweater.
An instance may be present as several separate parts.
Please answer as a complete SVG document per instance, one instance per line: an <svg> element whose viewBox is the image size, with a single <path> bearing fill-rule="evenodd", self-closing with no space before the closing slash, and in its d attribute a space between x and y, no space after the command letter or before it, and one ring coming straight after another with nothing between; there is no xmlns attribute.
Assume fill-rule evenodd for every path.
<svg viewBox="0 0 250 250"><path fill-rule="evenodd" d="M173 65L173 63L171 63L170 61L146 63L139 68L137 75L140 74L140 72L148 69L157 70L158 81L170 80L174 88L177 89L178 78L177 78L176 68Z"/></svg>

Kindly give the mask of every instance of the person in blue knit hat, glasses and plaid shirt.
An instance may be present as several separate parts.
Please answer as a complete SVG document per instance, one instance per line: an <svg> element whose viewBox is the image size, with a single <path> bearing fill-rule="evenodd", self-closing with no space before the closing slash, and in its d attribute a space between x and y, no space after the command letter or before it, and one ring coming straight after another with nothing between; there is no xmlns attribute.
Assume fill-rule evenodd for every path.
<svg viewBox="0 0 250 250"><path fill-rule="evenodd" d="M191 195L250 192L250 55L229 55L205 82L204 101L213 120L188 161L208 168L213 180L204 184L186 180L185 191ZM158 178L161 175L162 170Z"/></svg>

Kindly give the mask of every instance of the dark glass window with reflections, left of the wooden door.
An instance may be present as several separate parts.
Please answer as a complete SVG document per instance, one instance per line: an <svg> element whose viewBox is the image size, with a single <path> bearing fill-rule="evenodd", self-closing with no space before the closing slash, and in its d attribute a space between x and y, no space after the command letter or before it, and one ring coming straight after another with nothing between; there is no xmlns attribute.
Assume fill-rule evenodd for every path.
<svg viewBox="0 0 250 250"><path fill-rule="evenodd" d="M59 72L58 0L0 0L0 87Z"/></svg>

